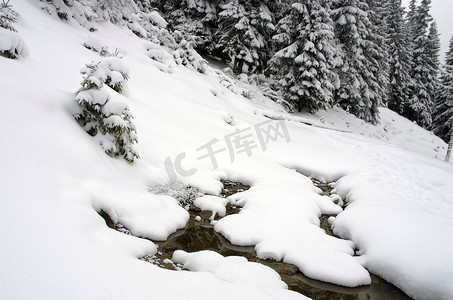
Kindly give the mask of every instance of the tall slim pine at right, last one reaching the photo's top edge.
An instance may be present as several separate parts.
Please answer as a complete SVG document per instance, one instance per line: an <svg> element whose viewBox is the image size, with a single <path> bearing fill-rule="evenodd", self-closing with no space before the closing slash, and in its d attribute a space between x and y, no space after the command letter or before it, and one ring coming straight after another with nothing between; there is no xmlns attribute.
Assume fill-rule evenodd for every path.
<svg viewBox="0 0 453 300"><path fill-rule="evenodd" d="M404 116L417 122L424 128L431 125L431 110L433 106L432 89L430 80L433 80L431 61L429 57L428 24L431 0L422 0L417 7L410 29L412 31L413 47L411 70L411 95L406 104Z"/></svg>

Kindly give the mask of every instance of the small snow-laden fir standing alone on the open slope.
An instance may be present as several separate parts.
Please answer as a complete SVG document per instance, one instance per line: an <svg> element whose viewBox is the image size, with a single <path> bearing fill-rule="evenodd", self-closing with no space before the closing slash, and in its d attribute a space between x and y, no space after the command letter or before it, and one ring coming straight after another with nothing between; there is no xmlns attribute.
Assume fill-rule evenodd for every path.
<svg viewBox="0 0 453 300"><path fill-rule="evenodd" d="M81 88L76 92L79 111L74 118L92 137L95 137L109 156L123 156L132 163L138 158L132 115L123 101L109 96L104 83L116 91L122 90L127 71L117 57L89 63L81 70Z"/></svg>

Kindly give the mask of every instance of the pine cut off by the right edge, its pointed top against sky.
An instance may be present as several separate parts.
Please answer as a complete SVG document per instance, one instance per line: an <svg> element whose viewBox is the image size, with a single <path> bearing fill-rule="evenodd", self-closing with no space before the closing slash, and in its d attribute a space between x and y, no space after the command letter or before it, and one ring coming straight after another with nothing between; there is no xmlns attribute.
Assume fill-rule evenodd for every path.
<svg viewBox="0 0 453 300"><path fill-rule="evenodd" d="M453 37L446 53L433 113L433 131L445 142L453 134Z"/></svg>

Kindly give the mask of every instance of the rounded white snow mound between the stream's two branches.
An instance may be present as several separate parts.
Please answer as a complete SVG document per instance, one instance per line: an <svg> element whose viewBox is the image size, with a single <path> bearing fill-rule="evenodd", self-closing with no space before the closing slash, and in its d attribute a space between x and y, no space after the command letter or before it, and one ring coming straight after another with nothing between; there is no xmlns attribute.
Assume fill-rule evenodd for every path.
<svg viewBox="0 0 453 300"><path fill-rule="evenodd" d="M229 197L243 208L219 220L217 232L233 244L256 245L258 257L294 264L314 279L350 287L371 283L352 257L354 243L319 228L322 213L337 214L341 207L320 196L311 181L295 171L273 164L261 164L256 173L251 170L257 168L244 169L244 176L259 177L249 190Z"/></svg>

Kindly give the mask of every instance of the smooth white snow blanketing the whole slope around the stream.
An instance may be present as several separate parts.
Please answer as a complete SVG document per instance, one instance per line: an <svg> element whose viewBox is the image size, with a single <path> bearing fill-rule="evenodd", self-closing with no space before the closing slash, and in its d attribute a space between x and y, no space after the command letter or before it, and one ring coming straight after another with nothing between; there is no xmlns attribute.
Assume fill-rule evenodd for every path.
<svg viewBox="0 0 453 300"><path fill-rule="evenodd" d="M184 227L189 216L177 201L149 192L174 177L165 162L181 153L182 167L196 171L176 174L185 184L212 195L220 179L251 185L229 198L241 213L215 225L232 243L256 245L260 257L314 279L358 286L372 272L414 298L453 297L453 167L440 139L386 109L379 126L339 109L289 115L259 94L232 93L215 69L160 71L126 29L90 33L30 2L14 3L29 55L0 57L2 298L303 298L272 270L212 252L178 253L196 272L160 269L137 259L155 253L154 243L105 226L96 211L155 241ZM130 70L125 94L110 93L135 117L141 158L133 165L108 157L72 118L80 69L101 59L82 46L88 38L118 49ZM269 125L280 135L266 143ZM252 148L241 148L245 140ZM223 149L218 168L200 159L210 141ZM336 182L347 208L306 176ZM343 239L319 228L322 213L338 214L333 228Z"/></svg>

